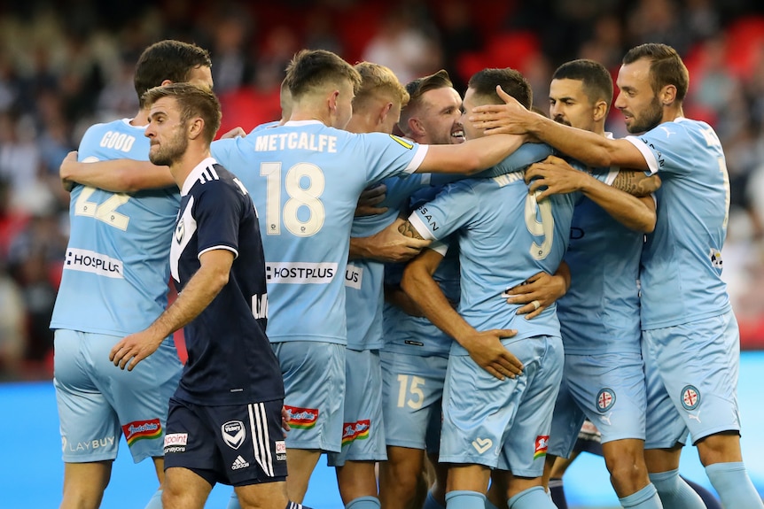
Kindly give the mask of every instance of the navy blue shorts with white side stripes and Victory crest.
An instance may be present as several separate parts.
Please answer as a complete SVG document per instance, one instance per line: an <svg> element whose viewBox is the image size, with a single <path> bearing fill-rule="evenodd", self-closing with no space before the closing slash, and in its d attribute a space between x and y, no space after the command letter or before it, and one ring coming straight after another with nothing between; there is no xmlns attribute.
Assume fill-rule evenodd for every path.
<svg viewBox="0 0 764 509"><path fill-rule="evenodd" d="M213 486L285 481L283 404L206 406L171 397L165 469L188 468Z"/></svg>

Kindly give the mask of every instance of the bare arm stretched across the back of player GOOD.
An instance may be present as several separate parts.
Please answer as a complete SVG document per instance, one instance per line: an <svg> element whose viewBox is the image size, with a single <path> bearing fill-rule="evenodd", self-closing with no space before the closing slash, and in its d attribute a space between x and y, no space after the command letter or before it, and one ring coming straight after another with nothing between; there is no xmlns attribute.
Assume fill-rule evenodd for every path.
<svg viewBox="0 0 764 509"><path fill-rule="evenodd" d="M155 166L149 161L113 159L85 163L77 161L77 152L69 152L58 167L64 189L73 182L115 193L131 193L141 189L177 187L168 166Z"/></svg>

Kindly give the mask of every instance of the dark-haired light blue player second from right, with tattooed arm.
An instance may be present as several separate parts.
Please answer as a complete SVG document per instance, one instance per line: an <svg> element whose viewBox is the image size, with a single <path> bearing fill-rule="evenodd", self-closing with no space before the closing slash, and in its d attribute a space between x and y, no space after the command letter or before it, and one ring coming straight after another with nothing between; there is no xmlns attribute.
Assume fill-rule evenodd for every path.
<svg viewBox="0 0 764 509"><path fill-rule="evenodd" d="M601 64L573 60L552 76L550 118L558 123L605 136L611 103L612 78ZM622 174L635 184L647 178L641 172ZM577 190L604 186L575 170L543 176L554 190L557 176L575 181ZM610 196L619 197L613 192ZM565 370L552 419L547 471L557 457L570 457L587 417L602 434L605 465L621 505L661 507L643 456L646 400L637 288L644 233L655 227L655 203L652 197L642 198L630 229L597 204L601 199L585 196L573 212L565 253L571 284L557 301Z"/></svg>

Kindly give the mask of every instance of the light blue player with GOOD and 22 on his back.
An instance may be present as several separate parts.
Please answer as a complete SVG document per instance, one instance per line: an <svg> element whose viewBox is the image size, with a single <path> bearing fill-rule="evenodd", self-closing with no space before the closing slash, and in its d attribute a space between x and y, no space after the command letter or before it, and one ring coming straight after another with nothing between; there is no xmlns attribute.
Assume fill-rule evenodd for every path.
<svg viewBox="0 0 764 509"><path fill-rule="evenodd" d="M138 59L136 93L140 97L173 81L212 86L210 66L207 50L157 42ZM145 160L147 121L141 100L135 118L90 127L80 160ZM175 343L165 337L152 359L131 373L115 370L107 357L114 343L149 325L167 305L169 246L179 203L175 189L129 195L72 189L69 244L51 319L65 462L62 508L100 505L121 433L136 463L153 459L160 490L147 507L161 506L168 399L182 369Z"/></svg>

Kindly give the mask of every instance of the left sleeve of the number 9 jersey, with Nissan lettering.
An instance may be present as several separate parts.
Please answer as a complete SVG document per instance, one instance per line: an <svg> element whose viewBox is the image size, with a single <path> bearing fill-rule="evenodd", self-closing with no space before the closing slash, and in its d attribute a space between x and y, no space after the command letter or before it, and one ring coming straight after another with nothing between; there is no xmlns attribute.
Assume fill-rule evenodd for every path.
<svg viewBox="0 0 764 509"><path fill-rule="evenodd" d="M409 223L427 240L444 239L470 223L478 199L468 182L448 184L432 201L411 212Z"/></svg>

